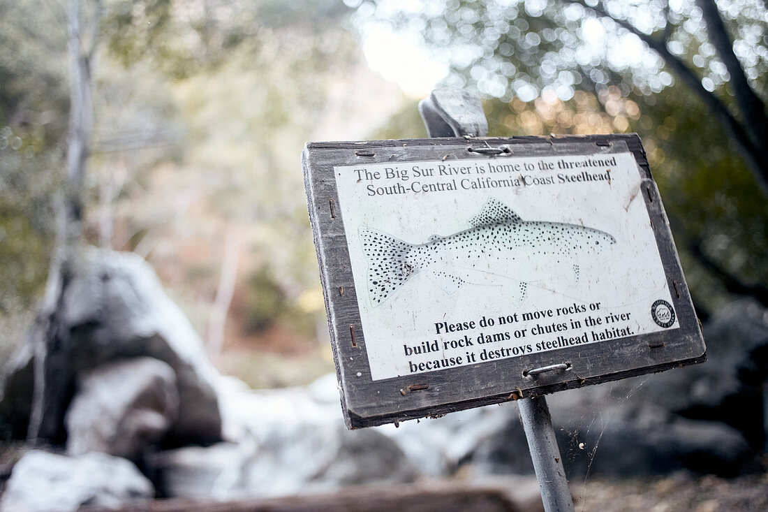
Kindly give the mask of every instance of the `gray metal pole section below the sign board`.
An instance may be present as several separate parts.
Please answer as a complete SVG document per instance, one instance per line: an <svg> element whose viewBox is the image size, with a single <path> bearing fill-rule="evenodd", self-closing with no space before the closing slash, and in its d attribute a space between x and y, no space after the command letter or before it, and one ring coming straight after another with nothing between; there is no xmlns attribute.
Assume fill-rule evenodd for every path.
<svg viewBox="0 0 768 512"><path fill-rule="evenodd" d="M541 500L546 512L574 510L571 490L565 479L563 460L554 438L554 427L545 397L521 398L517 401L520 418L531 450L531 460L536 471Z"/></svg>

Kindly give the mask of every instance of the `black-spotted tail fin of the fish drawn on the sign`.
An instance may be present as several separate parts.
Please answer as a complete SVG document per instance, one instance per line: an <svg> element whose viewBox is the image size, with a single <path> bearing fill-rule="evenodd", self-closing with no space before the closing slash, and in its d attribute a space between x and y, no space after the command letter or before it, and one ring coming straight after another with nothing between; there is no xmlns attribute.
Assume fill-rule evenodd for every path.
<svg viewBox="0 0 768 512"><path fill-rule="evenodd" d="M368 261L368 297L376 308L418 271L406 261L413 246L367 226L357 232Z"/></svg>

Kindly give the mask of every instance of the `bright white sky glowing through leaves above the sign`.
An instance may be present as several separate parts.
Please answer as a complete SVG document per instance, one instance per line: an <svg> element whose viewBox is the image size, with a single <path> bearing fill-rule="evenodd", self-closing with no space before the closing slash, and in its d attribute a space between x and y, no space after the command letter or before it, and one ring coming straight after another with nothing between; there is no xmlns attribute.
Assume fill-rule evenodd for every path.
<svg viewBox="0 0 768 512"><path fill-rule="evenodd" d="M552 8L548 2L538 0L497 0L486 5L490 18L485 19L482 29L477 28L476 12L459 8L460 4L452 0L379 0L375 7L359 0L347 0L347 4L357 8L354 22L362 34L370 67L411 95L425 95L438 81L463 86L453 83L455 75L444 80L449 66L454 71L463 70L462 73L468 75L483 95L503 99L516 97L522 101L535 99L545 89L554 91L561 100L571 99L580 82L572 75L572 70L568 71L573 66L594 68L590 80L598 84L610 81L610 77L601 71L601 64L618 71L631 70L635 76L634 85L647 93L658 92L674 83L672 75L664 71L661 59L650 52L640 38L613 22L595 18L581 5L559 4L556 16L568 32L562 28L538 31L528 26L525 16L540 16L545 8ZM654 32L664 25L664 17L659 18L660 13L654 6L630 4L611 2L610 7L620 11L618 15L631 20L644 32ZM680 2L670 2L670 18L678 20L684 17L683 13L690 14L684 30L678 32L684 41L698 37L703 30L700 12L694 8L689 13L689 8ZM445 23L454 24L458 32L452 33ZM431 49L426 49L425 35L428 33ZM535 62L528 62L524 55L518 55L527 63L525 65L537 71L535 75L528 75L520 66L505 62L499 55L486 55L487 48L498 45L502 34L514 38L519 48L515 50L504 43L498 46L499 55L521 51L530 51L532 55L537 48L551 43L563 45L563 48L557 53L538 55ZM672 38L669 44L670 50L675 52L680 41ZM567 72L562 72L564 70ZM717 67L708 71L703 77L705 87L709 85L707 88L715 88L727 80L727 74Z"/></svg>

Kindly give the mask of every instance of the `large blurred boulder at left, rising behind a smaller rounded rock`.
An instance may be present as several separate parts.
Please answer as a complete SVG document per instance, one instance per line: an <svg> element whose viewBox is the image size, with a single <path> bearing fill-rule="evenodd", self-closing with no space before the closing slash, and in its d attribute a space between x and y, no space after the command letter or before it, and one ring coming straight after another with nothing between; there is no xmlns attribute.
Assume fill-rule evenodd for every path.
<svg viewBox="0 0 768 512"><path fill-rule="evenodd" d="M96 248L86 251L84 258L74 266L58 306L59 331L67 333L68 340L55 357L65 361L61 367L68 372L56 385L74 388L78 374L108 361L154 357L173 368L179 394L177 419L166 443L220 441L217 373L200 337L164 293L151 266L137 254ZM26 434L34 357L29 341L5 370L0 420L12 427L15 437ZM61 411L66 405L59 404ZM63 419L62 414L62 431Z"/></svg>

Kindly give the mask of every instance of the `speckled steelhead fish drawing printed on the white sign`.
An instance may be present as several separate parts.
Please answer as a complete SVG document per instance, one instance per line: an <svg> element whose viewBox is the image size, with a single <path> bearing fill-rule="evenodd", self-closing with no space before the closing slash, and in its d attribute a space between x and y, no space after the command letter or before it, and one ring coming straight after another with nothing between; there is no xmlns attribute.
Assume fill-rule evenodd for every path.
<svg viewBox="0 0 768 512"><path fill-rule="evenodd" d="M435 234L423 244L360 226L371 304L384 303L417 272L428 273L449 294L465 284L515 281L515 302L521 304L528 283L570 274L578 284L581 264L616 243L611 234L578 224L524 221L495 198L489 198L469 224L465 231Z"/></svg>

